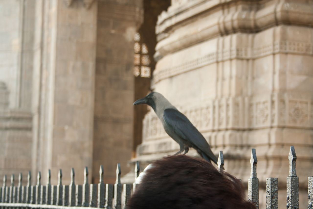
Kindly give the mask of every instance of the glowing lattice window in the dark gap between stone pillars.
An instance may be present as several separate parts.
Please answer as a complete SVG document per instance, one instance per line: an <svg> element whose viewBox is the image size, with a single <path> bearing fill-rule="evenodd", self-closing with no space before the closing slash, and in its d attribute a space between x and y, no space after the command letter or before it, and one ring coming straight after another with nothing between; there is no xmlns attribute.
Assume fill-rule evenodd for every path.
<svg viewBox="0 0 313 209"><path fill-rule="evenodd" d="M134 36L134 75L143 78L150 78L151 67L150 67L150 56L148 55L148 47L145 43L142 43L139 33Z"/></svg>

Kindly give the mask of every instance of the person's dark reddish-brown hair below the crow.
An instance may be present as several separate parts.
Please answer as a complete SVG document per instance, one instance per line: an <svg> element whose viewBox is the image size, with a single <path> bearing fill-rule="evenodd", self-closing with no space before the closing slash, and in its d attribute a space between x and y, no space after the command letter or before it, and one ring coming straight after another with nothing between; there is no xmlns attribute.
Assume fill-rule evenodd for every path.
<svg viewBox="0 0 313 209"><path fill-rule="evenodd" d="M152 163L127 209L256 209L244 199L241 182L211 163L187 155Z"/></svg>

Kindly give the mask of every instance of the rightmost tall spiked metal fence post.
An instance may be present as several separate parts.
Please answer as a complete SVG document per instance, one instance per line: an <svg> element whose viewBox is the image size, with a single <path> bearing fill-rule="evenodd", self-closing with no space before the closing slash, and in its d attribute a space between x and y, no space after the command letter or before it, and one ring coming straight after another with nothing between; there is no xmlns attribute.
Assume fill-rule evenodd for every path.
<svg viewBox="0 0 313 209"><path fill-rule="evenodd" d="M290 146L289 152L289 176L287 177L287 209L299 208L299 178L295 169L295 147Z"/></svg>

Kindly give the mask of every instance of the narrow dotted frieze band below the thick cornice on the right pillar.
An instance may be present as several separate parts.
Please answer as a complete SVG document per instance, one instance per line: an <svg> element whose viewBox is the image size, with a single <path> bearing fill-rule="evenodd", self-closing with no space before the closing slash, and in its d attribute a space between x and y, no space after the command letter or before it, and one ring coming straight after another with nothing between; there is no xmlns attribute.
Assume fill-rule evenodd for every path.
<svg viewBox="0 0 313 209"><path fill-rule="evenodd" d="M263 56L289 53L313 56L313 44L305 42L295 42L288 40L274 41L259 47L237 47L211 52L199 58L183 62L179 65L165 69L156 69L153 72L152 86L163 79L173 77L184 72L198 69L200 67L231 59L257 59Z"/></svg>

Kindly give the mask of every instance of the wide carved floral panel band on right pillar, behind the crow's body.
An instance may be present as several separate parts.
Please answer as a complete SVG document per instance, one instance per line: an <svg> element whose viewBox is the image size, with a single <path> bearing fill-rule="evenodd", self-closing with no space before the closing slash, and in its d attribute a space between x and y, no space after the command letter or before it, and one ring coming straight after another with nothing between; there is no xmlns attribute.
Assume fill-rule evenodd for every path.
<svg viewBox="0 0 313 209"><path fill-rule="evenodd" d="M182 105L179 110L201 132L254 130L274 127L313 128L313 99L271 96L212 99L200 106ZM160 120L150 110L143 120L143 141L167 138Z"/></svg>

